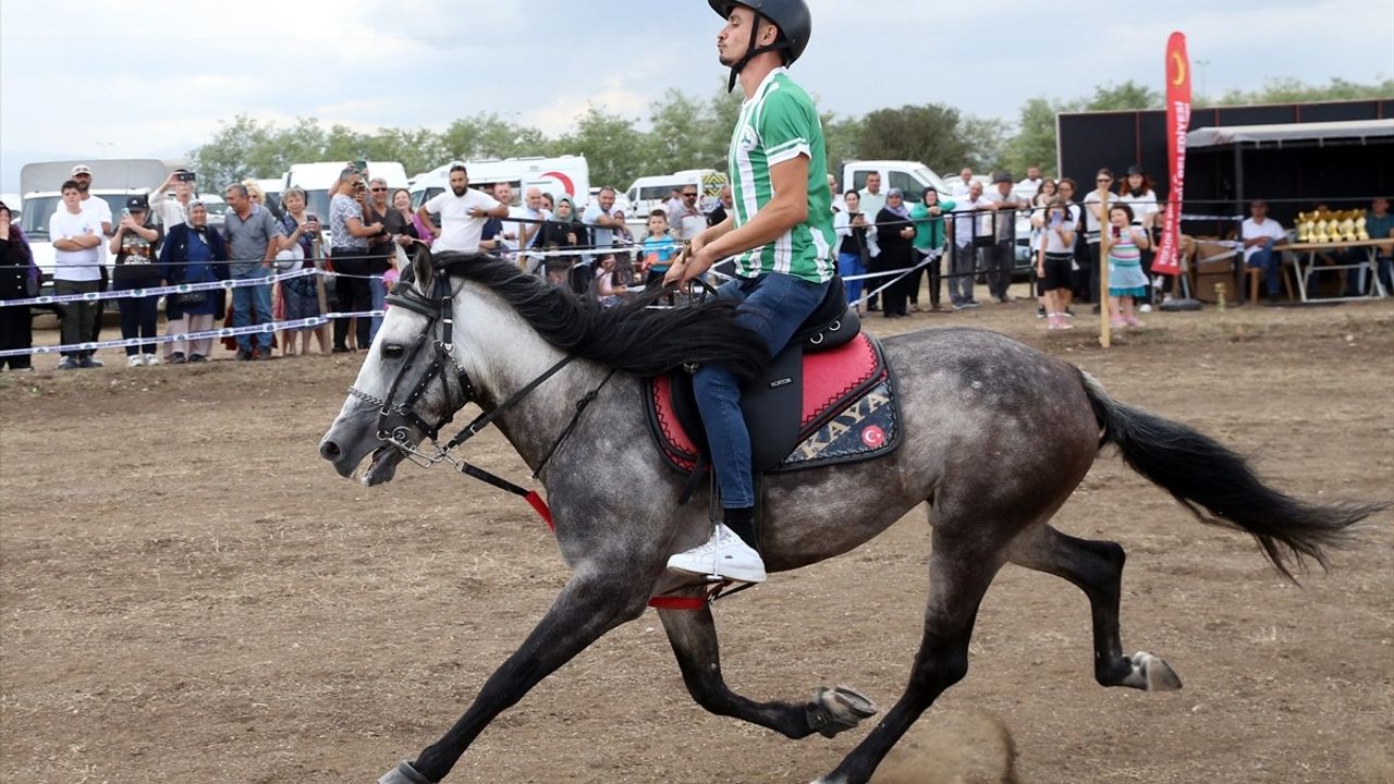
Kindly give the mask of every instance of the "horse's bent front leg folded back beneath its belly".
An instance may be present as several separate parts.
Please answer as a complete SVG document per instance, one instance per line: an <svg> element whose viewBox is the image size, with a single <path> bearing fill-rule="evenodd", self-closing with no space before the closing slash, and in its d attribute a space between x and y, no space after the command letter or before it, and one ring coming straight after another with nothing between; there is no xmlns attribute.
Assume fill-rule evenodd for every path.
<svg viewBox="0 0 1394 784"><path fill-rule="evenodd" d="M754 702L732 692L721 677L721 651L711 608L659 610L683 682L697 704L717 716L758 724L789 738L814 731L834 737L875 713L875 706L850 689L818 689L807 703Z"/></svg>

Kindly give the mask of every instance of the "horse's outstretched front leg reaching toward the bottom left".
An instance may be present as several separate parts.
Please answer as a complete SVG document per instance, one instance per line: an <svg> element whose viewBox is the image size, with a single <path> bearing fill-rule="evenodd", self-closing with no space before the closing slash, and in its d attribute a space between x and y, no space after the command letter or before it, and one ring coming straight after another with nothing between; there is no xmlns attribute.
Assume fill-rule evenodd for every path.
<svg viewBox="0 0 1394 784"><path fill-rule="evenodd" d="M484 684L454 727L411 764L401 763L379 784L435 784L445 778L495 716L585 650L605 632L644 612L648 591L634 572L597 575L579 569L527 640Z"/></svg>

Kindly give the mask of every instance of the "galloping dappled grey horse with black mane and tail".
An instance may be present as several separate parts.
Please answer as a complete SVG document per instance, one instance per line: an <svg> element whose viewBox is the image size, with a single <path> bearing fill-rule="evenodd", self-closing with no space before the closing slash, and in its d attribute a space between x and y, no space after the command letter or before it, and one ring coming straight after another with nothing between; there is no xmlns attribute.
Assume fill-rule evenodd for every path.
<svg viewBox="0 0 1394 784"><path fill-rule="evenodd" d="M643 377L690 361L751 370L764 361L725 304L606 311L487 257L432 261L421 251L413 273L399 285L321 455L346 477L371 456L362 481L389 481L407 451L475 402L498 414L538 472L572 578L464 716L414 762L385 774L386 784L442 780L495 716L601 635L638 618L650 597L705 594L700 578L664 568L672 552L705 541L711 523L704 504L679 505L684 477L664 465L645 432ZM899 449L764 483L761 551L771 572L848 552L928 504L930 600L909 685L824 783L867 781L934 699L963 678L979 604L1004 564L1058 575L1085 591L1100 684L1181 686L1160 658L1124 654L1122 547L1050 526L1103 445L1115 445L1200 520L1253 536L1288 576L1308 558L1326 565L1323 548L1377 509L1315 506L1273 491L1216 441L1111 400L1078 368L1002 335L926 329L888 338L884 349L898 377ZM569 354L579 359L524 392ZM584 398L594 403L577 416ZM811 700L743 698L722 681L710 607L659 615L689 692L712 713L804 738L832 737L874 711L850 689L818 689Z"/></svg>

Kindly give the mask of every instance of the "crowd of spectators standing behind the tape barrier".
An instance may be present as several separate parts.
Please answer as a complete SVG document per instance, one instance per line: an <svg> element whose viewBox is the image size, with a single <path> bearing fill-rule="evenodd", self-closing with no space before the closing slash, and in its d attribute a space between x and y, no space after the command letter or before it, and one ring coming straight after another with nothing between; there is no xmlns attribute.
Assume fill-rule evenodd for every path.
<svg viewBox="0 0 1394 784"><path fill-rule="evenodd" d="M1076 201L1071 179L1043 177L1032 166L1013 181L1005 172L976 177L965 167L948 183L951 195L934 188L907 194L882 190L881 176L868 173L861 188L832 193L836 246L832 252L852 307L906 318L916 312L952 312L980 307L977 285L988 297L1012 304L1009 287L1018 254L1019 216L1030 226L1029 252L1037 315L1048 329L1069 329L1072 307L1107 304L1114 326L1139 326L1168 280L1151 275L1153 248L1163 205L1146 172L1131 166L1115 191L1111 170L1097 172L1094 188ZM487 251L514 259L519 266L579 296L606 306L662 285L683 243L704 227L721 223L733 209L732 188L721 190L711 211L701 209L696 184L672 191L647 215L647 234L630 233L627 216L616 208L616 191L601 188L584 206L570 197L553 199L530 187L513 204L510 183L489 191L470 187L463 163L450 167L449 188L413 209L411 194L390 190L381 177L348 165L332 188L328 223L307 212L305 191L282 194L282 213L273 213L252 180L224 191L227 215L220 229L210 226L206 205L197 195L197 176L177 170L146 198L130 197L114 218L102 198L91 194L92 172L75 166L63 183L61 204L49 220L56 265L56 294L151 289L162 285L215 280L262 280L275 272L328 268L337 275L305 275L272 286L252 285L222 292L188 292L164 297L166 336L212 329L220 322L247 326L265 322L315 319L326 312L381 311L397 276L397 248L425 243L434 251ZM1108 199L1108 215L1103 204ZM1263 271L1270 299L1278 294L1281 248L1287 232L1255 201L1238 232L1246 266ZM1374 199L1368 216L1370 236L1394 237L1388 201ZM1110 254L1101 258L1103 233ZM1361 252L1361 251L1351 251ZM113 257L107 264L107 254ZM1394 243L1377 247L1377 275L1394 289ZM1355 262L1359 258L1338 258ZM945 269L947 264L947 269ZM1108 264L1108 290L1100 292L1101 265ZM721 269L719 266L717 268ZM110 278L109 278L110 275ZM928 286L924 286L924 280ZM35 296L40 275L10 209L0 204L0 299ZM1352 276L1354 279L1354 276ZM947 280L947 301L941 289ZM921 311L920 294L928 304ZM1170 296L1165 294L1165 296ZM227 300L231 300L230 303ZM114 300L120 308L127 365L202 363L212 340L181 339L158 350L158 296ZM675 299L669 296L668 303ZM60 308L63 345L96 342L105 303L79 300ZM224 321L226 319L226 321ZM238 360L343 353L372 343L381 318L337 318L330 333L323 325L279 333L255 332L226 340ZM297 340L298 338L298 340ZM298 342L298 350L297 350ZM0 350L32 345L28 308L0 308ZM0 368L28 370L29 356L6 357ZM91 350L64 352L59 368L92 368L102 361Z"/></svg>

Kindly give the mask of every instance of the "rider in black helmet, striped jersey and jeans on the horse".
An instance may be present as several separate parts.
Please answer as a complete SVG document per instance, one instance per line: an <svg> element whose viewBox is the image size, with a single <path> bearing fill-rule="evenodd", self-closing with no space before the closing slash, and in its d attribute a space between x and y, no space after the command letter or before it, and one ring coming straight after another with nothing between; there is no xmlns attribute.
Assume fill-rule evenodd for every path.
<svg viewBox="0 0 1394 784"><path fill-rule="evenodd" d="M786 70L807 47L813 18L804 0L708 3L726 20L717 49L721 63L730 67L728 88L739 80L746 95L728 155L733 209L693 239L691 255L673 264L666 280L689 282L718 259L736 257L736 276L718 296L739 303L740 321L774 356L822 301L835 269L822 127L813 99ZM707 544L673 555L668 568L764 580L739 378L730 368L708 364L694 374L693 388L723 519Z"/></svg>

